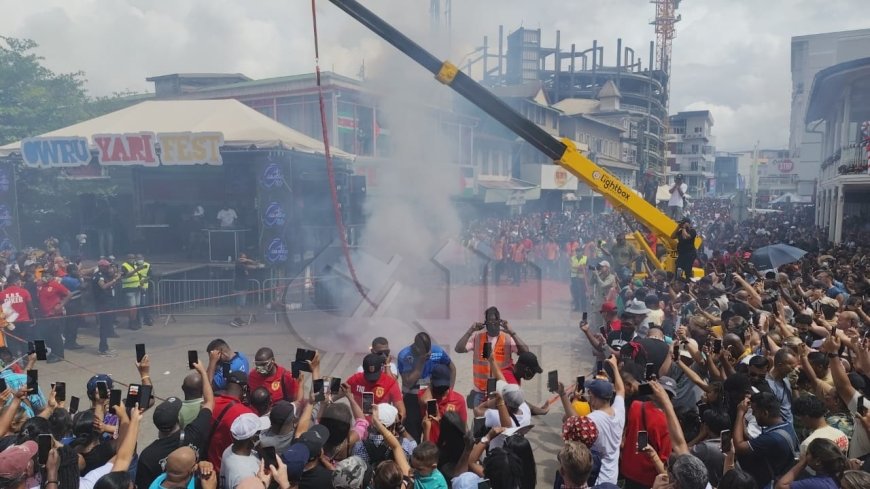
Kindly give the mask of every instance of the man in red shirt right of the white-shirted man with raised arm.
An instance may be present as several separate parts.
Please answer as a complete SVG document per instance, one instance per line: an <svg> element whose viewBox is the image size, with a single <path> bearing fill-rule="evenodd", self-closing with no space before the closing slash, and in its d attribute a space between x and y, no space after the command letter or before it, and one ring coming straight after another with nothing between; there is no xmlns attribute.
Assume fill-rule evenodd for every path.
<svg viewBox="0 0 870 489"><path fill-rule="evenodd" d="M668 397L673 399L677 393L677 382L670 377L661 377L658 382L668 393ZM638 431L647 432L649 445L656 451L659 459L667 460L671 456L668 420L656 401L641 398L629 406L626 415L625 442L622 444L622 453L619 457L619 472L625 476L625 487L652 487L658 472L649 456L643 450L638 450Z"/></svg>

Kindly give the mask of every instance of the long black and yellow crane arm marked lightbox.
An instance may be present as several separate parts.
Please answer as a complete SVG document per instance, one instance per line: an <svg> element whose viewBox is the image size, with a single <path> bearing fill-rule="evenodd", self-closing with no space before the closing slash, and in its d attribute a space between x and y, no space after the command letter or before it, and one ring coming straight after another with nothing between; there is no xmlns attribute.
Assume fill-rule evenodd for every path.
<svg viewBox="0 0 870 489"><path fill-rule="evenodd" d="M356 0L330 0L330 2L426 68L435 75L438 81L448 85L466 100L603 195L615 209L630 213L641 224L652 230L669 252L675 250L676 243L671 236L677 229L677 223L645 201L618 178L584 156L570 139L559 140L551 136L547 131L523 117L503 100L461 72L455 65L449 61L439 60ZM699 244L700 242L696 242L696 245Z"/></svg>

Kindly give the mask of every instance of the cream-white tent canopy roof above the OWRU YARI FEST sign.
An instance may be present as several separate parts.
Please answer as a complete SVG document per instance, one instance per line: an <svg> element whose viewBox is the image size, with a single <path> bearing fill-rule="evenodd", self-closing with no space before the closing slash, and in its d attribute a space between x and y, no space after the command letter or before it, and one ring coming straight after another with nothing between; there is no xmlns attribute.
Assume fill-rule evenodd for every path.
<svg viewBox="0 0 870 489"><path fill-rule="evenodd" d="M220 132L224 146L284 148L323 153L323 143L271 119L234 99L149 100L39 137L84 137L121 133ZM21 152L21 141L0 146L0 156ZM331 148L333 156L353 156Z"/></svg>

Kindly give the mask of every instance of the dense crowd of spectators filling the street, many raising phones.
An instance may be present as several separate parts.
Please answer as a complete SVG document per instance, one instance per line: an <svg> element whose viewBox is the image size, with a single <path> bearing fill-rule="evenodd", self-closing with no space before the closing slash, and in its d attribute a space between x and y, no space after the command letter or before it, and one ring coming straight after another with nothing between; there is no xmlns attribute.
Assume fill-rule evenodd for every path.
<svg viewBox="0 0 870 489"><path fill-rule="evenodd" d="M495 307L452 351L438 344L453 339L426 332L397 352L376 337L353 373L324 372L316 351L299 348L282 365L269 347L249 360L214 339L202 362L189 352L180 386L152 383L143 348L139 383L99 374L80 391L40 385L39 352L15 361L0 350L0 488L530 489L552 454L554 489L870 487L870 254L860 235L831 245L798 210L735 223L711 201L686 215L706 243L693 264L704 275L693 280L661 270L621 277L636 257L621 234L630 223L613 214L540 214L469 231L477 247L529 239L561 253L577 242L565 268L585 259L589 290L572 304L579 331L566 332L594 353L585 372L545 374L548 359ZM754 259L780 242L808 253L779 267ZM123 285L132 260L115 274L101 264L91 286ZM7 268L4 294L20 294L20 272ZM63 283L51 278L57 269L42 267L37 297L39 284ZM522 280L522 268L514 274ZM55 311L65 300L36 302ZM471 371L456 355L471 357ZM538 375L553 393L542 405L523 390ZM472 381L470 392L455 390L457 378ZM157 436L141 440L148 411ZM533 418L556 411L562 440L530 440Z"/></svg>

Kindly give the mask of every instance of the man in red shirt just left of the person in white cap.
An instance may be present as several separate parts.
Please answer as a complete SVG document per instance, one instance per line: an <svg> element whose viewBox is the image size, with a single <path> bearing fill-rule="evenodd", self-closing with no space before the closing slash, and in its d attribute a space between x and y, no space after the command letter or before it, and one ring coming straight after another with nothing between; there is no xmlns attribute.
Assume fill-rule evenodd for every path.
<svg viewBox="0 0 870 489"><path fill-rule="evenodd" d="M211 426L214 430L208 444L207 460L214 465L215 473L220 473L224 450L233 444L233 435L230 433L233 421L245 413L254 412L242 404L247 391L248 375L244 372L230 372L226 390L214 398L214 411L211 414Z"/></svg>

